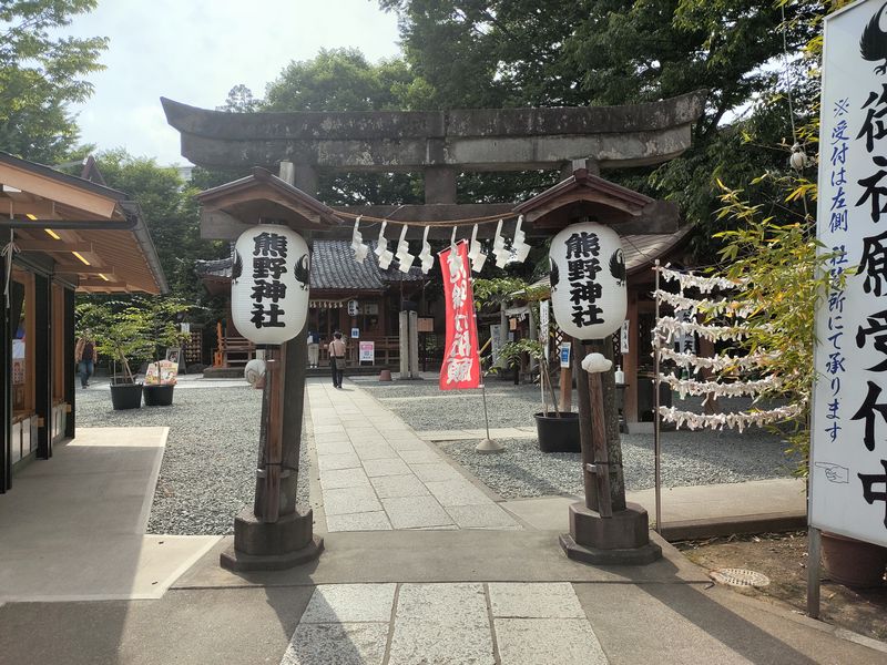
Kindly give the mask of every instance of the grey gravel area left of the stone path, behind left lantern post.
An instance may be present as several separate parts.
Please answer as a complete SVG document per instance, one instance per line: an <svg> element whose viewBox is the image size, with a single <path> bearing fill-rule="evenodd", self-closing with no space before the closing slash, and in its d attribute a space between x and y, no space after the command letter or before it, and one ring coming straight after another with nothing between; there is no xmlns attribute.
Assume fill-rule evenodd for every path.
<svg viewBox="0 0 887 665"><path fill-rule="evenodd" d="M262 392L248 386L179 388L171 407L114 411L105 389L78 389L80 427L169 427L149 533L230 534L252 504ZM307 446L302 447L299 505L307 505ZM304 479L304 481L303 481Z"/></svg>

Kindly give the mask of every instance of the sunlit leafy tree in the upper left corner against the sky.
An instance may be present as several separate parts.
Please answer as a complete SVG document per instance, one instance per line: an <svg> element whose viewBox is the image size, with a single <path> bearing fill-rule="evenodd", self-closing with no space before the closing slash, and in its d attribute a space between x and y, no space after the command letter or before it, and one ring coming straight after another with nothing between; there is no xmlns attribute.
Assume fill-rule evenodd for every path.
<svg viewBox="0 0 887 665"><path fill-rule="evenodd" d="M85 74L103 69L105 38L55 37L53 30L95 8L96 0L0 2L0 150L47 164L78 140L68 105L85 101Z"/></svg>

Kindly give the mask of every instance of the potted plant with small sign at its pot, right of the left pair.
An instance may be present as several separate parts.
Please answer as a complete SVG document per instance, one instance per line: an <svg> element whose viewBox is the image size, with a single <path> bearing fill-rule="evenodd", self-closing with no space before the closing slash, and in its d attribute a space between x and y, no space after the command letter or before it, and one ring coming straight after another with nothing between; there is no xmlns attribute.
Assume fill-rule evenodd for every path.
<svg viewBox="0 0 887 665"><path fill-rule="evenodd" d="M173 403L173 390L179 371L179 358L161 360L161 350L180 347L190 335L182 332L177 319L188 306L175 298L152 298L142 303L141 313L145 330L153 341L154 362L145 374L144 398L146 407L169 407Z"/></svg>

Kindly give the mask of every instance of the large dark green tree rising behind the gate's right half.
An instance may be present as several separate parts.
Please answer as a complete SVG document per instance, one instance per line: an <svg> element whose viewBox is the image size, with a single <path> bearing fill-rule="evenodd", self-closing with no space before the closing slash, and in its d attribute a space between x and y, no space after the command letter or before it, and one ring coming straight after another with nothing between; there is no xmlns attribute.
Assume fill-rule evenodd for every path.
<svg viewBox="0 0 887 665"><path fill-rule="evenodd" d="M710 91L693 146L659 167L606 177L675 201L700 226L697 248L716 221L716 177L750 182L784 167L791 146L785 86L795 86L799 122L815 114L817 83L796 53L824 14L820 0L380 0L397 11L407 62L430 90L432 105L558 106L650 102ZM786 14L782 21L783 11ZM784 25L784 32L781 30ZM550 175L550 174L549 174ZM463 192L504 200L544 186L543 176L470 176ZM538 178L538 180L534 180ZM490 192L485 190L493 183ZM773 197L768 182L748 191ZM793 205L793 204L788 204Z"/></svg>

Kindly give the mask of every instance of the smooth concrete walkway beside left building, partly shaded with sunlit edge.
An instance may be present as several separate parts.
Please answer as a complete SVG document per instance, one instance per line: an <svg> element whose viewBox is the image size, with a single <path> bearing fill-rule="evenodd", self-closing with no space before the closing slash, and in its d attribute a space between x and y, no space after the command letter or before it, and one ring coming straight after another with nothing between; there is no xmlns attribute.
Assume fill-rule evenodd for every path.
<svg viewBox="0 0 887 665"><path fill-rule="evenodd" d="M16 475L0 501L0 603L159 598L218 542L145 535L167 433L78 428Z"/></svg>

